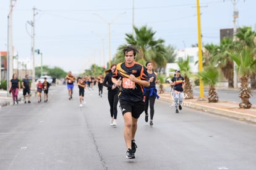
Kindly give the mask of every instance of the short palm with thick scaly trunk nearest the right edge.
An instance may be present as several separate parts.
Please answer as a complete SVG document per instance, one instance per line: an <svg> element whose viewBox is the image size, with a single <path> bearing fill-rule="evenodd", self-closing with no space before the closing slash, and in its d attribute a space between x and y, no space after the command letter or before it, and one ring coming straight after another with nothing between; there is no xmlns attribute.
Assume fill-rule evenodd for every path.
<svg viewBox="0 0 256 170"><path fill-rule="evenodd" d="M256 48L253 50L249 46L239 45L234 51L232 51L230 56L236 62L237 73L241 76L241 87L239 88L239 98L241 98L241 103L239 103L239 108L250 109L252 104L249 101L251 95L250 87L248 86L249 75L256 72L256 59L255 56Z"/></svg>

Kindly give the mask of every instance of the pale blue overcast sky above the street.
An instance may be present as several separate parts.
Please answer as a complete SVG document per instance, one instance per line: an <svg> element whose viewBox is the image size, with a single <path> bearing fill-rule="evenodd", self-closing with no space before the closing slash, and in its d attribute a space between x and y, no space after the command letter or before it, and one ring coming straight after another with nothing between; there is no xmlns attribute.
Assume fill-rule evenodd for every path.
<svg viewBox="0 0 256 170"><path fill-rule="evenodd" d="M233 28L234 0L200 0L203 45L220 43L220 29ZM236 0L237 27L255 30L255 0ZM40 49L43 65L58 66L79 73L93 63L106 66L117 48L126 43L126 33L147 25L155 40L176 49L198 43L196 0L17 0L12 20L12 41L20 60L32 60L32 27L35 12L35 49ZM134 9L134 10L133 10ZM1 0L0 51L7 51L7 15L10 0ZM134 12L133 12L134 11ZM110 29L109 29L110 26ZM110 33L109 33L110 32ZM35 54L35 65L40 66Z"/></svg>

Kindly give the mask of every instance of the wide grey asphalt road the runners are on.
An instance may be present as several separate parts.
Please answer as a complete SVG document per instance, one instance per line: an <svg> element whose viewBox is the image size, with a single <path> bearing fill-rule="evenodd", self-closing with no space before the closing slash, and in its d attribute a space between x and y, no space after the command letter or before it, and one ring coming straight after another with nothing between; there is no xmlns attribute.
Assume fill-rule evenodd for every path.
<svg viewBox="0 0 256 170"><path fill-rule="evenodd" d="M153 127L139 118L135 159L126 159L124 121L111 127L106 88L49 89L49 102L0 108L0 169L255 169L256 125L157 100Z"/></svg>

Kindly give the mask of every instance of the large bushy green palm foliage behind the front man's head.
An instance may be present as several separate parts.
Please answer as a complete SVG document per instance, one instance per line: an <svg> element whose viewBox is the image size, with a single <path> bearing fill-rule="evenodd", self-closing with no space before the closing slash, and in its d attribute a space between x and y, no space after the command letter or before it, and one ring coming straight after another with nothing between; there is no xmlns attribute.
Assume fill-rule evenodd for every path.
<svg viewBox="0 0 256 170"><path fill-rule="evenodd" d="M126 41L127 45L134 45L139 50L135 60L143 65L145 65L147 61L151 61L156 72L164 72L164 68L168 61L173 61L175 59L176 54L174 53L173 46L166 47L163 45L164 40L155 40L154 36L156 32L153 32L151 28L147 28L147 26L141 28L134 27L134 30L135 36L126 33ZM127 45L119 46L117 54L113 59L113 63L124 62L122 49Z"/></svg>

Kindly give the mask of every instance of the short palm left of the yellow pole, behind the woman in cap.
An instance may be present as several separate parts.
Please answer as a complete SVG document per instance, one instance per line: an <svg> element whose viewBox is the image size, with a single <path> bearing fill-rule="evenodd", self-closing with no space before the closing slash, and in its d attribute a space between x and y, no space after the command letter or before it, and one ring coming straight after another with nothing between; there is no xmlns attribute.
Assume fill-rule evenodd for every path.
<svg viewBox="0 0 256 170"><path fill-rule="evenodd" d="M185 83L183 92L184 94L186 94L186 99L194 98L193 88L189 79L189 77L192 76L192 73L190 72L190 66L189 66L189 57L187 57L185 61L177 62L177 64L181 72L184 74L184 79L186 83Z"/></svg>

